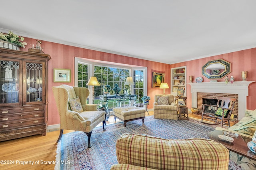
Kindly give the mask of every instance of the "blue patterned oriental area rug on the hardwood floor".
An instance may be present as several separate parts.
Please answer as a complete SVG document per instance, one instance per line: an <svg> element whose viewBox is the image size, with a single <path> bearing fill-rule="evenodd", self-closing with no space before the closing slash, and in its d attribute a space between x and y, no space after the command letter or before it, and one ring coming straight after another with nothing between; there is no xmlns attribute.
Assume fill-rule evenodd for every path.
<svg viewBox="0 0 256 170"><path fill-rule="evenodd" d="M116 123L94 128L91 136L91 148L88 148L88 138L84 132L63 134L58 143L55 170L109 170L116 160L116 140L124 133L146 134L166 139L207 138L207 133L214 126L206 126L196 121L154 119L146 117L141 120ZM232 165L231 165L232 166ZM237 168L231 168L237 169Z"/></svg>

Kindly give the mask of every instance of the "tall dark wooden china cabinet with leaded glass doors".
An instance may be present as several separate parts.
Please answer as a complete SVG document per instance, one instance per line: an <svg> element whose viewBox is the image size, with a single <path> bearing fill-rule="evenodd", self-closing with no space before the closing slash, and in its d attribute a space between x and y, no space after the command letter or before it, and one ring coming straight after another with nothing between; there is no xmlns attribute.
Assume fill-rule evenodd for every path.
<svg viewBox="0 0 256 170"><path fill-rule="evenodd" d="M0 141L46 135L50 59L0 48Z"/></svg>

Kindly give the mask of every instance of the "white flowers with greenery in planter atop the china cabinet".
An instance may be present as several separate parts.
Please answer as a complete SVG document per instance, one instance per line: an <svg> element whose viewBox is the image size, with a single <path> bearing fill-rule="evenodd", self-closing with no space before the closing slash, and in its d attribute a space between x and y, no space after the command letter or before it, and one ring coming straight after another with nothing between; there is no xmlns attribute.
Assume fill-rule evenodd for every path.
<svg viewBox="0 0 256 170"><path fill-rule="evenodd" d="M19 47L25 48L27 45L23 37L19 37L17 34L9 31L8 34L0 33L0 47L19 50Z"/></svg>

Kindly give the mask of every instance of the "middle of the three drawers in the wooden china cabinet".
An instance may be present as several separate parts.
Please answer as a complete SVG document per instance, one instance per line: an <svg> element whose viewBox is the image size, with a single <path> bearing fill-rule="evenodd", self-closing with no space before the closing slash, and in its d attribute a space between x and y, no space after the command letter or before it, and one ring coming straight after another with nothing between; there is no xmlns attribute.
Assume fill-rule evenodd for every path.
<svg viewBox="0 0 256 170"><path fill-rule="evenodd" d="M31 119L31 118L38 118L38 117L44 117L44 113L20 113L17 115L6 115L0 117L0 123L9 122L9 121L23 121L24 119Z"/></svg>

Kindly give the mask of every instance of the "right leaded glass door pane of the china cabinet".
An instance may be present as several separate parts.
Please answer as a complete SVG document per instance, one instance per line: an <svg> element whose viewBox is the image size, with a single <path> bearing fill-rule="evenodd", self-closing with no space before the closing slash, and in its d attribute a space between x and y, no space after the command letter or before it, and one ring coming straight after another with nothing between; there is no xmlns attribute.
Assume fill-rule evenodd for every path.
<svg viewBox="0 0 256 170"><path fill-rule="evenodd" d="M26 63L26 103L43 101L43 79L42 63Z"/></svg>

